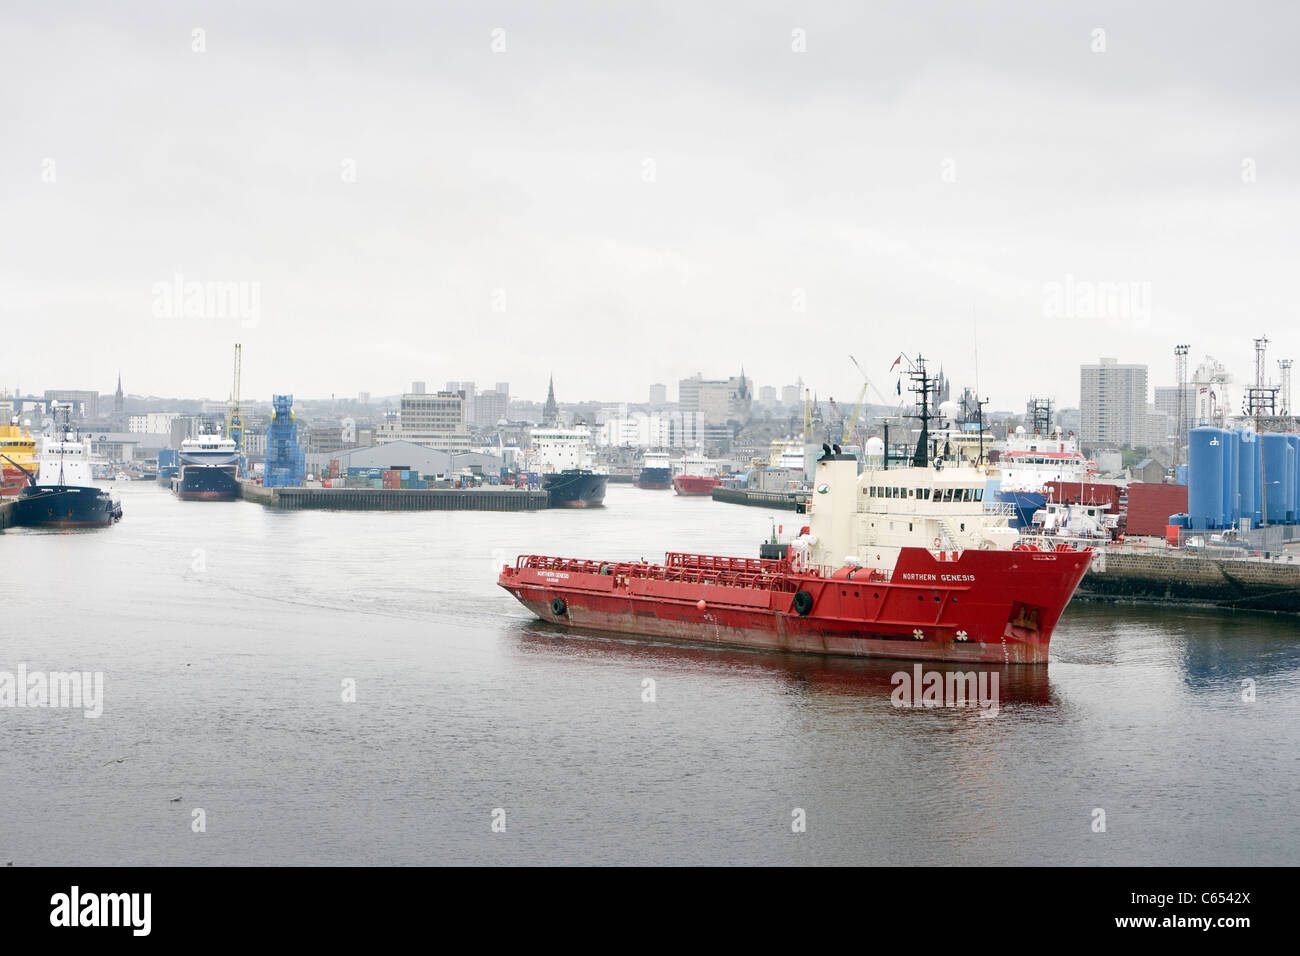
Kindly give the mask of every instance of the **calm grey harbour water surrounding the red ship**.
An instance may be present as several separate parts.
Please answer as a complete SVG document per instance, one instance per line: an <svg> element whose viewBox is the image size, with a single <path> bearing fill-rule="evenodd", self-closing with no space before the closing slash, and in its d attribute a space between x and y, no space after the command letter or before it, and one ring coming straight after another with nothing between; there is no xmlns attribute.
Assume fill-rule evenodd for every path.
<svg viewBox="0 0 1300 956"><path fill-rule="evenodd" d="M789 512L114 490L113 528L0 536L0 671L104 679L99 718L0 708L0 865L1300 862L1294 618L1075 602L994 717L902 709L906 662L575 636L494 585Z"/></svg>

